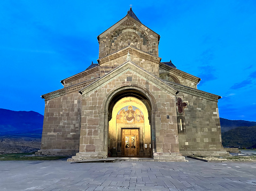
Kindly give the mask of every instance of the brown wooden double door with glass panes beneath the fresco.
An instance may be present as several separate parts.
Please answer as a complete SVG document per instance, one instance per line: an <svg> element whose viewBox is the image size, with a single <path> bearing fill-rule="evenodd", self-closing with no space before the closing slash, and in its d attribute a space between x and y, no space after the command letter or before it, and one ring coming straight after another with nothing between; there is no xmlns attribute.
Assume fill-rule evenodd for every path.
<svg viewBox="0 0 256 191"><path fill-rule="evenodd" d="M136 156L139 146L138 129L122 129L123 155Z"/></svg>

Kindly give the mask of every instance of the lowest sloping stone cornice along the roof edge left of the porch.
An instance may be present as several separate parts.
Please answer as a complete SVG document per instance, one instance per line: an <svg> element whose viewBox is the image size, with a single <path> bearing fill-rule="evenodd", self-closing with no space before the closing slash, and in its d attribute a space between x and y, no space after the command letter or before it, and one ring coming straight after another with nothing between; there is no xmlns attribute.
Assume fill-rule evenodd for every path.
<svg viewBox="0 0 256 191"><path fill-rule="evenodd" d="M80 84L76 84L74 86L69 86L69 87L66 87L66 88L63 88L63 89L59 89L59 90L56 90L54 92L44 94L41 97L44 99L44 101L48 101L49 99L59 97L59 96L65 95L65 94L69 94L69 93L72 93L72 92L78 92L80 89L88 86L89 84L91 84L92 82L94 82L96 80L98 80L98 78L94 78L94 79L91 79L91 80L88 80L88 81L84 81L84 82L81 82Z"/></svg>

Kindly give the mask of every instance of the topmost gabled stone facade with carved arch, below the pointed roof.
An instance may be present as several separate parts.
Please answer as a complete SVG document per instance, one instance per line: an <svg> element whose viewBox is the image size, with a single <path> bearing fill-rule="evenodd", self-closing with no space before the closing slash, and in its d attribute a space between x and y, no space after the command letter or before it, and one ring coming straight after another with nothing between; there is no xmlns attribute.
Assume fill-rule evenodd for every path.
<svg viewBox="0 0 256 191"><path fill-rule="evenodd" d="M158 56L159 38L156 32L127 15L98 36L99 58L129 45Z"/></svg>

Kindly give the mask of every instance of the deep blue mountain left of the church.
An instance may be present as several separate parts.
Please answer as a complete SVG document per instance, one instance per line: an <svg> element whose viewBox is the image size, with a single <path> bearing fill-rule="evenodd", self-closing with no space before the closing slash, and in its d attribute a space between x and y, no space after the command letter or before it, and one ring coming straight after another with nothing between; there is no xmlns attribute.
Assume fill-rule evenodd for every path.
<svg viewBox="0 0 256 191"><path fill-rule="evenodd" d="M43 115L34 111L0 109L0 136L13 134L42 135Z"/></svg>

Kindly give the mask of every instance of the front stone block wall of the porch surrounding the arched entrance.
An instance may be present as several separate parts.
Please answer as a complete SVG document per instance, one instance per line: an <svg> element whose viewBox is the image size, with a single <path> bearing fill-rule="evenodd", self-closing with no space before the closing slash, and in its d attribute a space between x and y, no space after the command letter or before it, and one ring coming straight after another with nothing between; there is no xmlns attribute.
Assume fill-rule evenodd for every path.
<svg viewBox="0 0 256 191"><path fill-rule="evenodd" d="M136 69L137 67L134 68ZM132 80L127 81L127 77L131 77ZM91 157L91 153L94 152L107 152L107 143L104 143L107 136L107 129L104 126L108 121L103 120L106 120L103 102L112 91L121 87L141 87L150 92L153 99L156 101L156 103L153 103L156 107L153 115L155 127L151 127L155 128L153 136L156 138L156 153L154 153L154 155L160 157L164 155L169 156L172 155L172 153L179 153L175 107L176 98L174 93L166 93L161 90L157 84L154 84L141 76L137 76L132 70L126 71L121 74L121 76L113 72L108 74L105 78L106 79L101 79L103 80L103 84L100 85L101 82L99 80L97 84L91 85L93 87L82 90L83 101L79 150L81 153L77 154L77 157L81 155L86 157L86 153L89 153L87 157ZM154 78L154 80L156 81L157 79ZM159 80L157 81L159 82ZM172 91L172 88L170 87L166 87L166 90L167 89ZM174 92L176 91L174 90Z"/></svg>

